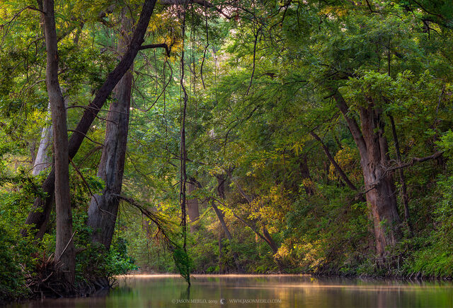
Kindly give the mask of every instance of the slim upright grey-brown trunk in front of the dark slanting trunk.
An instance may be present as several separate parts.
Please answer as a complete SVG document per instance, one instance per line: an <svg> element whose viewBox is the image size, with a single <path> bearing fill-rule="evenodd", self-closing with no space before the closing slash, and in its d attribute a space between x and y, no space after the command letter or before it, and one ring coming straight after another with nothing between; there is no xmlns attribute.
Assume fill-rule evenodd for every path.
<svg viewBox="0 0 453 308"><path fill-rule="evenodd" d="M62 278L74 283L75 251L72 235L72 213L69 201L69 154L66 107L58 81L58 47L55 28L54 1L42 1L47 51L46 84L52 109L52 126L55 155L55 206L57 237L55 259L61 264Z"/></svg>

